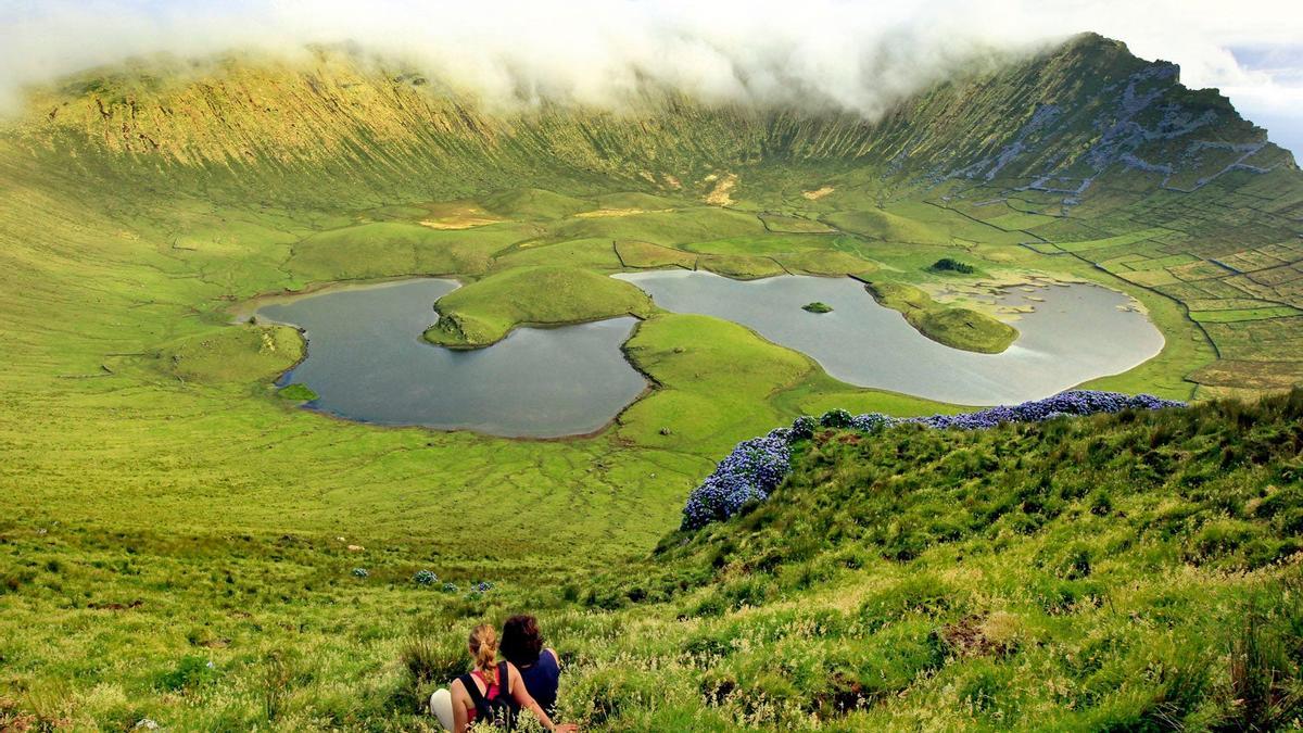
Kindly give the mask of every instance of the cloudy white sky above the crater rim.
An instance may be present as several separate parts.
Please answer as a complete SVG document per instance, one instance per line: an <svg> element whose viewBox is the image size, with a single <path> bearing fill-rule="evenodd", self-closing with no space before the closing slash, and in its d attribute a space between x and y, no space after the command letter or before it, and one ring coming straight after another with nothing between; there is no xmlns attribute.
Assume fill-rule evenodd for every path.
<svg viewBox="0 0 1303 733"><path fill-rule="evenodd" d="M0 107L130 55L356 40L490 103L614 106L652 78L873 119L990 48L1084 30L1181 64L1187 86L1221 89L1303 158L1298 0L0 0Z"/></svg>

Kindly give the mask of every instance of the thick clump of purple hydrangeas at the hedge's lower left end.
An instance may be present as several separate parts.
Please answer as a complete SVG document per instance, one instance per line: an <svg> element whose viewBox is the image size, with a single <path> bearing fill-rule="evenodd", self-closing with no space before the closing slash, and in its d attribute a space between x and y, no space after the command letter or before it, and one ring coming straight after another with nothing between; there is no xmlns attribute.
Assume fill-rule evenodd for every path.
<svg viewBox="0 0 1303 733"><path fill-rule="evenodd" d="M797 420L800 421L800 420ZM779 428L762 438L737 443L714 473L688 494L683 507L683 528L696 530L736 514L753 501L764 501L791 470L788 442L800 440L794 425L791 430ZM813 434L813 430L810 430Z"/></svg>

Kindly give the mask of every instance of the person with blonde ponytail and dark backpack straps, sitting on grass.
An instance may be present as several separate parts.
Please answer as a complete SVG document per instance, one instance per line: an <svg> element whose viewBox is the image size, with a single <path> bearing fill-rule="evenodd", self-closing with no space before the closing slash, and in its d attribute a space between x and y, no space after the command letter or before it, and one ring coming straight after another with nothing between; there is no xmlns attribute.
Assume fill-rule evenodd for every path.
<svg viewBox="0 0 1303 733"><path fill-rule="evenodd" d="M534 702L520 678L520 670L509 661L498 663L498 633L487 623L470 631L466 640L474 669L452 681L447 690L430 695L430 712L453 733L465 733L477 720L509 729L516 712L528 710L549 730L571 733L575 725L556 725L547 712ZM496 664L495 664L496 663Z"/></svg>

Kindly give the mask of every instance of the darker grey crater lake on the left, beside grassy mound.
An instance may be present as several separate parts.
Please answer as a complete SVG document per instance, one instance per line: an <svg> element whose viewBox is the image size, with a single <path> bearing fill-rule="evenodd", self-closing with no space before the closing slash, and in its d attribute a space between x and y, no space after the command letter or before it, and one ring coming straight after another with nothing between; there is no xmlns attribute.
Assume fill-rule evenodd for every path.
<svg viewBox="0 0 1303 733"><path fill-rule="evenodd" d="M646 381L620 344L635 318L517 329L474 351L431 346L421 334L443 279L343 287L263 305L258 316L304 329L308 359L280 383L308 385L313 410L384 425L558 437L599 429Z"/></svg>

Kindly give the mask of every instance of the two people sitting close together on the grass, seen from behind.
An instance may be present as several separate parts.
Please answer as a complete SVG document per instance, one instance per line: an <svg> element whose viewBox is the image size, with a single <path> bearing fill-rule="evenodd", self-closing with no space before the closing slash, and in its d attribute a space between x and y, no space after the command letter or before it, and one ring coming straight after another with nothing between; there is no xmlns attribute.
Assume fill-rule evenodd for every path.
<svg viewBox="0 0 1303 733"><path fill-rule="evenodd" d="M498 634L487 623L470 631L468 647L474 669L430 695L430 712L446 729L464 733L477 721L511 728L516 713L528 710L549 730L576 730L575 725L552 723L560 660L555 651L543 648L533 616L512 616L503 625L504 661L498 661Z"/></svg>

